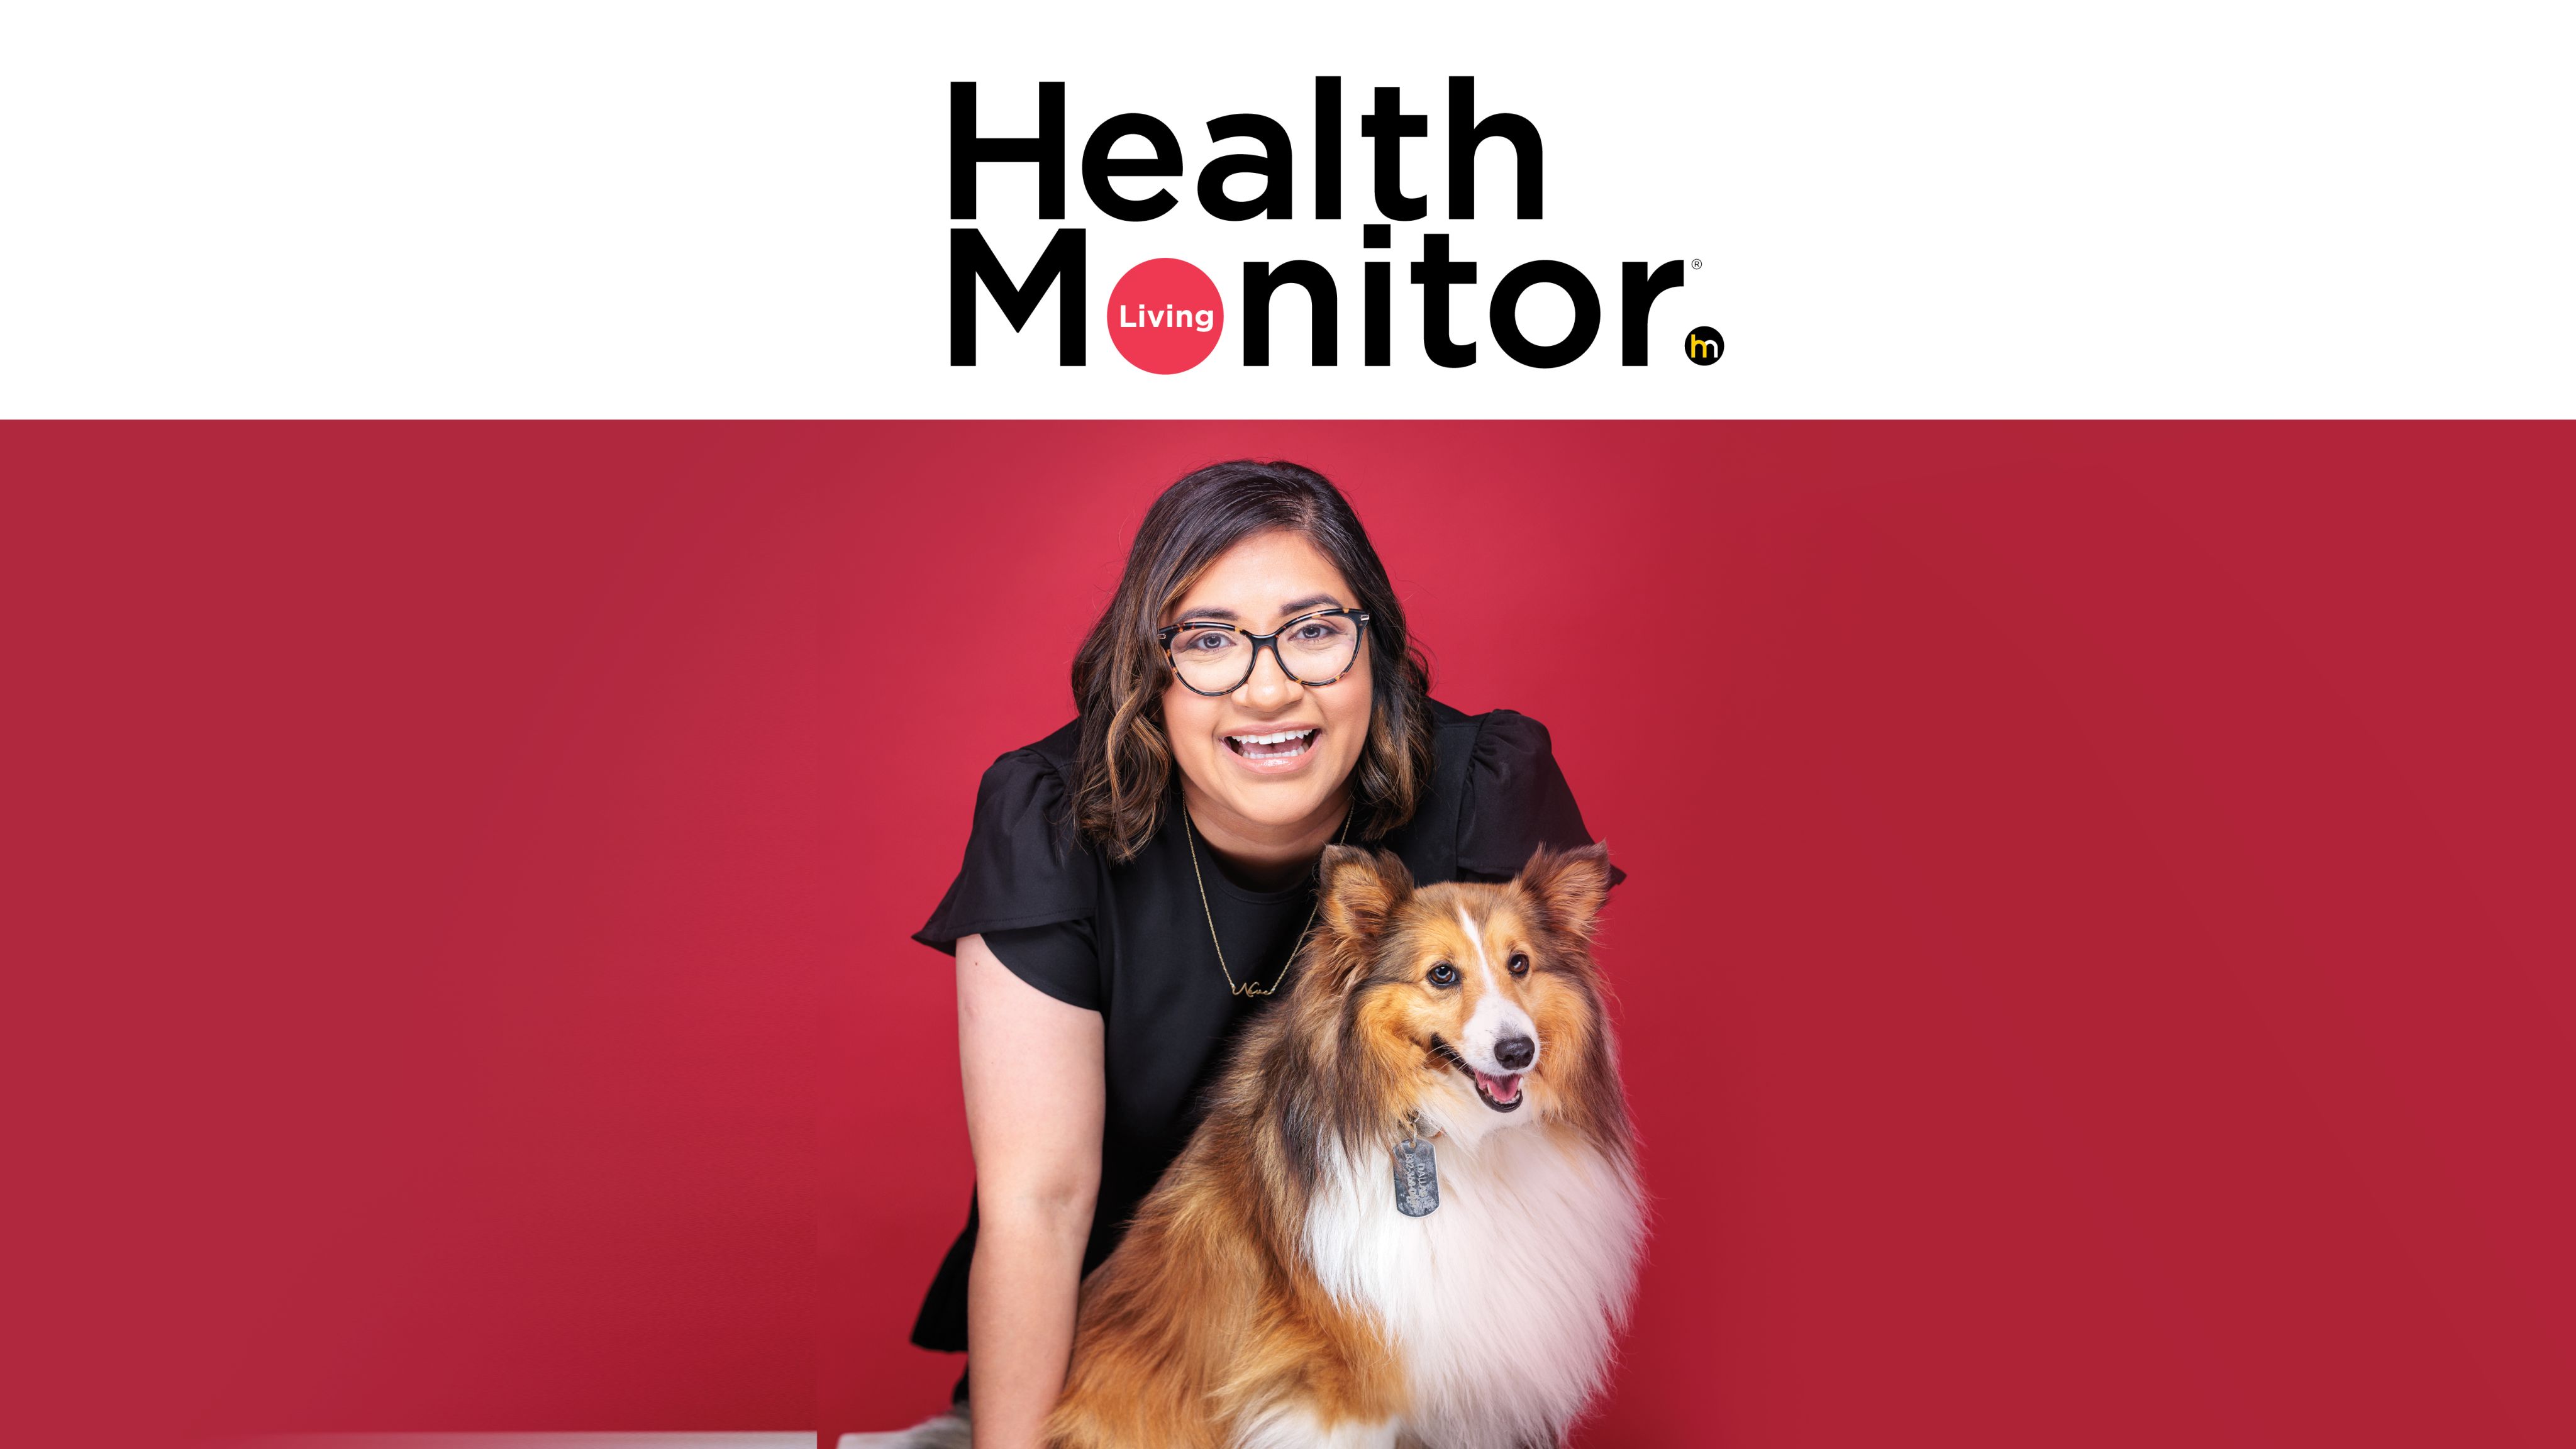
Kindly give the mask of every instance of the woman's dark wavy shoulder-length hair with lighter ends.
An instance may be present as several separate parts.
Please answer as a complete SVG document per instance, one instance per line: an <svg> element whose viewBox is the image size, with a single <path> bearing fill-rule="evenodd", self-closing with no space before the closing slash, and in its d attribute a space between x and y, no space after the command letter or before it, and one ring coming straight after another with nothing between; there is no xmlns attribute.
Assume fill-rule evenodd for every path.
<svg viewBox="0 0 2576 1449"><path fill-rule="evenodd" d="M1350 500L1324 474L1288 462L1203 467L1146 508L1118 593L1074 652L1082 755L1072 815L1113 861L1133 859L1154 838L1172 792L1172 740L1162 727L1172 663L1154 632L1218 554L1273 529L1332 559L1358 590L1352 608L1368 611L1373 699L1368 743L1350 771L1352 835L1373 841L1404 825L1430 786L1432 670Z"/></svg>

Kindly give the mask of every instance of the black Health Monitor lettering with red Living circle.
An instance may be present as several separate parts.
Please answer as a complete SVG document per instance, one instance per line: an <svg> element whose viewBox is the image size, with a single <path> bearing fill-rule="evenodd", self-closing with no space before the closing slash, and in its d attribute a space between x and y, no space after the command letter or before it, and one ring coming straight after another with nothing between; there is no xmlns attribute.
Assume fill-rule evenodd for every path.
<svg viewBox="0 0 2576 1449"><path fill-rule="evenodd" d="M1206 124L1208 142L1252 142L1252 152L1211 155L1198 170L1198 183L1185 186L1200 211L1218 222L1342 222L1342 77L1319 75L1314 80L1314 129L1306 137L1303 168L1298 142L1288 126L1260 113L1216 116ZM1430 142L1430 113L1404 111L1404 93L1396 85L1378 85L1373 106L1360 116L1360 137L1368 142L1368 201L1381 219L1360 224L1360 253L1394 253L1396 227L1430 224L1430 193L1404 191L1406 142ZM1113 155L1121 142L1141 139L1151 155ZM1453 75L1448 80L1448 116L1443 126L1448 188L1445 217L1471 222L1476 217L1476 152L1499 142L1512 152L1512 219L1540 219L1546 214L1546 142L1528 116L1497 111L1476 113L1476 77ZM1128 147L1136 150L1133 144ZM1064 219L1066 193L1066 126L1064 83L1038 83L1038 134L987 137L976 129L976 83L948 85L948 217L953 222L976 219L976 180L984 168L1030 165L1038 180L1038 219ZM1419 165L1419 160L1417 160ZM1149 224L1182 201L1172 186L1157 186L1139 196L1157 178L1182 178L1180 137L1172 126L1141 111L1123 111L1100 121L1082 142L1082 191L1092 209L1118 224ZM1303 191L1301 191L1303 175ZM1231 183L1231 186L1229 186ZM1247 186L1252 183L1252 186ZM1301 211L1303 204L1303 211ZM1278 237L1262 229L1262 237ZM1303 232L1311 250L1347 248L1347 232ZM1417 286L1422 315L1422 356L1437 366L1476 366L1481 345L1455 338L1461 307L1476 304L1476 284L1486 276L1473 258L1458 255L1453 229L1422 229L1406 237L1414 253L1404 266L1404 281ZM1133 253L1128 253L1133 255ZM1309 258L1242 260L1242 366L1270 366L1273 356L1273 302L1280 291L1303 297L1301 312L1303 353L1311 366L1345 366L1342 348L1342 284L1332 266ZM1659 263L1623 260L1610 297L1618 307L1618 348L1623 366L1646 366L1651 353L1654 304L1667 291L1687 284L1690 268L1669 258ZM1394 364L1394 258L1365 258L1360 263L1360 366ZM1522 330L1522 299L1533 291L1553 289L1571 312L1571 325L1551 340ZM1084 366L1090 291L1090 229L1056 227L1038 248L1036 258L1018 268L1007 266L984 237L981 227L951 227L948 232L948 361L951 366L976 364L976 322L989 299L1010 330L1018 333L1038 315L1038 307L1056 299L1056 364ZM1566 366L1592 351L1607 322L1602 286L1592 276L1564 260L1522 260L1494 281L1484 294L1486 335L1504 358L1553 369ZM1211 356L1226 335L1226 304L1216 281L1200 266L1182 258L1154 258L1128 268L1113 286L1103 309L1110 343L1118 356L1154 374L1188 371ZM1726 351L1716 327L1672 327L1672 348L1692 364L1708 366ZM1291 348L1298 338L1278 338ZM1667 343L1669 345L1669 343ZM1664 353L1669 356L1669 353Z"/></svg>

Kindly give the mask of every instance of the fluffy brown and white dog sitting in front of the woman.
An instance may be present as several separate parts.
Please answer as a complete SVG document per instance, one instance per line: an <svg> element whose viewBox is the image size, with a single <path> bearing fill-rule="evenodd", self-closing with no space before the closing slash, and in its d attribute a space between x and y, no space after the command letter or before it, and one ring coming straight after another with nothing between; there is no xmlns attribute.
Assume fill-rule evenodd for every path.
<svg viewBox="0 0 2576 1449"><path fill-rule="evenodd" d="M1288 995L1082 1284L1048 1449L1558 1444L1643 1235L1589 951L1607 890L1600 846L1430 887L1327 851ZM1437 1209L1412 1217L1419 1142Z"/></svg>

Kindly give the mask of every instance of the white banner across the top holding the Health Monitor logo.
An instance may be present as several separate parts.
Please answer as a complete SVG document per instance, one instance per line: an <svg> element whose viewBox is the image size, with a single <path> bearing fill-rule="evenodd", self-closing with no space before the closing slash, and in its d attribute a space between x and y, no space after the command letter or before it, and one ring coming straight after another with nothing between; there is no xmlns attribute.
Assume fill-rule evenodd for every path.
<svg viewBox="0 0 2576 1449"><path fill-rule="evenodd" d="M21 5L0 415L2566 418L2571 15Z"/></svg>

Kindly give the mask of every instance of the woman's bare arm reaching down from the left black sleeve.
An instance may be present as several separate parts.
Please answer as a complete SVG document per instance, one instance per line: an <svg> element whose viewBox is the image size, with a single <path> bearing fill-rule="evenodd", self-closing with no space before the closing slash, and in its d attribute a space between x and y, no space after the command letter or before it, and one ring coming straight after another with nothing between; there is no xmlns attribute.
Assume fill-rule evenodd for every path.
<svg viewBox="0 0 2576 1449"><path fill-rule="evenodd" d="M1100 1013L1023 982L981 936L966 936L958 1062L979 1217L966 1279L974 1449L1038 1449L1074 1354L1074 1292L1100 1194Z"/></svg>

